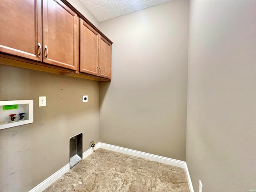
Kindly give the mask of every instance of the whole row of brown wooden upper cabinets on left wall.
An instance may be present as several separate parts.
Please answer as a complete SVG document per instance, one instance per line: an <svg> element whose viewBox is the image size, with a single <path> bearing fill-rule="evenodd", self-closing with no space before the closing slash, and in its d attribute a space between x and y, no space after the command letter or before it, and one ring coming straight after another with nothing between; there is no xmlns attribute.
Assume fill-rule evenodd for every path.
<svg viewBox="0 0 256 192"><path fill-rule="evenodd" d="M110 80L111 45L66 0L0 0L1 58Z"/></svg>

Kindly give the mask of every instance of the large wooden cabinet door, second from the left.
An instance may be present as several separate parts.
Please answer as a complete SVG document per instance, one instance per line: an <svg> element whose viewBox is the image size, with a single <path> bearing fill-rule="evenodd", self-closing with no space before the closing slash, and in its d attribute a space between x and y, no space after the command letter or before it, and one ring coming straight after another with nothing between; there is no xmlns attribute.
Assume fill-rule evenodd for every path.
<svg viewBox="0 0 256 192"><path fill-rule="evenodd" d="M43 62L77 69L78 17L60 0L43 0L43 50Z"/></svg>

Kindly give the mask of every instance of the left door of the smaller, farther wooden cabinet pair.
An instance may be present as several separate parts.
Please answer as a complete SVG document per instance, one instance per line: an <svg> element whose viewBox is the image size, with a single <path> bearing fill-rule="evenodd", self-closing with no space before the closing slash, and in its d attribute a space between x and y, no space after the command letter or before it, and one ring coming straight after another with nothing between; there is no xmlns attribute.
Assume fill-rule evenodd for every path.
<svg viewBox="0 0 256 192"><path fill-rule="evenodd" d="M80 20L80 72L98 76L98 32Z"/></svg>

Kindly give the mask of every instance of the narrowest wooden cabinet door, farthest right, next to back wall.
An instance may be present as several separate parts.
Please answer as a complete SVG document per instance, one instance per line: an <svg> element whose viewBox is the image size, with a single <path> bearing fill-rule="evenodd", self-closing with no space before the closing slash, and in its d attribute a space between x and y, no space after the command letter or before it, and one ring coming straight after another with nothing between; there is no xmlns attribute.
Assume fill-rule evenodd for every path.
<svg viewBox="0 0 256 192"><path fill-rule="evenodd" d="M99 76L111 79L111 43L100 36Z"/></svg>

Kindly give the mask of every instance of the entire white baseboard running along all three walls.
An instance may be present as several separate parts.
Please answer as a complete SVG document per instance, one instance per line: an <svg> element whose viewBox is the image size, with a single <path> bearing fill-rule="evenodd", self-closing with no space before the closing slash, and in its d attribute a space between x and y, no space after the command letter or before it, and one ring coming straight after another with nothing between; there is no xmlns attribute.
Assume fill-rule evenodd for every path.
<svg viewBox="0 0 256 192"><path fill-rule="evenodd" d="M194 192L192 182L190 179L190 175L188 172L188 166L187 166L186 162L184 162L184 161L167 158L167 157L163 157L163 156L159 156L159 155L154 155L154 154L150 154L150 153L145 153L145 152L141 152L141 151L136 151L136 150L132 150L132 149L128 149L128 148L118 147L118 146L114 146L114 145L110 145L110 144L106 144L106 143L97 143L94 148L89 148L88 150L86 150L83 153L83 159L86 158L87 156L89 156L90 154L92 154L98 148L112 150L115 152L120 152L120 153L124 153L124 154L128 154L128 155L137 156L137 157L141 157L144 159L148 159L148 160L184 168L186 170L186 174L188 177L188 184L189 184L190 192ZM69 171L69 164L66 164L63 168L61 168L60 170L58 170L57 172L52 174L50 177L48 177L46 180L44 180L43 182L41 182L40 184L35 186L29 192L42 192L43 190L45 190L48 186L50 186L52 183L54 183L56 180L58 180L62 175L64 175L68 171Z"/></svg>

